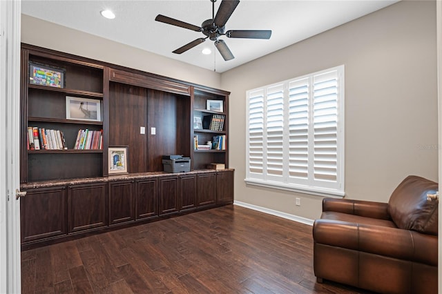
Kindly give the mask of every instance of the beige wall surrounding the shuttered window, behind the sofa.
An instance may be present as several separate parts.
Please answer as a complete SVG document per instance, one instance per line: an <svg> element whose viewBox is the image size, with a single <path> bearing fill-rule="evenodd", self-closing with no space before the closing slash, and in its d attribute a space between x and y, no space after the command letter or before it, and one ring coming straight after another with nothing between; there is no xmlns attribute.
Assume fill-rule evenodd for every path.
<svg viewBox="0 0 442 294"><path fill-rule="evenodd" d="M345 192L387 202L407 175L437 172L436 3L401 1L222 74L235 199L307 219L322 197L246 186L246 90L345 65ZM296 28L294 28L296 30ZM301 206L295 206L300 197Z"/></svg>

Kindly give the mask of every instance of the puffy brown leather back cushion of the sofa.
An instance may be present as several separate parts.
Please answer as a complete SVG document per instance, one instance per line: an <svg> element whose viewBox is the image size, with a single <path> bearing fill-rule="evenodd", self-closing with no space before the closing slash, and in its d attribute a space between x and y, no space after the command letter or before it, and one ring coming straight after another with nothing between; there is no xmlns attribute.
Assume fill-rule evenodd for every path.
<svg viewBox="0 0 442 294"><path fill-rule="evenodd" d="M393 191L388 202L388 213L398 228L437 235L438 200L427 199L438 184L410 175Z"/></svg>

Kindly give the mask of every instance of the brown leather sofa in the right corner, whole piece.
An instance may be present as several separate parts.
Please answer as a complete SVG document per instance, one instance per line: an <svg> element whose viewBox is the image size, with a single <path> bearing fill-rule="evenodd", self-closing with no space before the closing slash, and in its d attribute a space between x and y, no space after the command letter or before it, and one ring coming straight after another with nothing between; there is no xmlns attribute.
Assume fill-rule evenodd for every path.
<svg viewBox="0 0 442 294"><path fill-rule="evenodd" d="M379 293L437 293L438 190L409 176L388 203L323 199L313 226L314 273Z"/></svg>

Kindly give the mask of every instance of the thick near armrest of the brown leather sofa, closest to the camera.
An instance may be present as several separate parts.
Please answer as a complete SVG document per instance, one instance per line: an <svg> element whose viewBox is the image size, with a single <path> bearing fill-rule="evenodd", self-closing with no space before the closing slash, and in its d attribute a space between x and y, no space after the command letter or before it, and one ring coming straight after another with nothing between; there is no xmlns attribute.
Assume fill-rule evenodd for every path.
<svg viewBox="0 0 442 294"><path fill-rule="evenodd" d="M437 236L400 228L388 228L316 219L314 242L354 251L437 266Z"/></svg>

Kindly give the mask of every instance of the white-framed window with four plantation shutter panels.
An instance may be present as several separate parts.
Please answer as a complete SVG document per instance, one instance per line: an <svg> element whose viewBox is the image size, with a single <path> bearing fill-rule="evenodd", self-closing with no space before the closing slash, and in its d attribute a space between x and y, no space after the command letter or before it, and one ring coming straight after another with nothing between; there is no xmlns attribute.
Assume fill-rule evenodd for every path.
<svg viewBox="0 0 442 294"><path fill-rule="evenodd" d="M344 193L344 66L247 91L247 184Z"/></svg>

